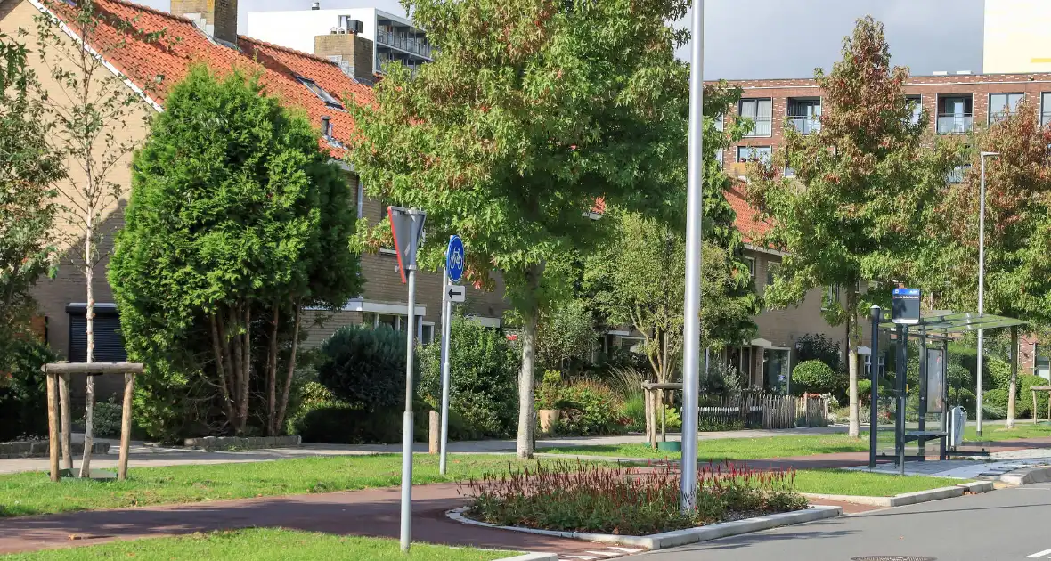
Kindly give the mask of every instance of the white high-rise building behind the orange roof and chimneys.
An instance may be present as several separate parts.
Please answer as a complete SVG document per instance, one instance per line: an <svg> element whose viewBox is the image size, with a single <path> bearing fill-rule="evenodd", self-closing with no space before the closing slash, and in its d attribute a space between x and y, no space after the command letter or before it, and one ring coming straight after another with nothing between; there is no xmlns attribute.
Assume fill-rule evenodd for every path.
<svg viewBox="0 0 1051 561"><path fill-rule="evenodd" d="M249 12L245 35L304 53L314 53L314 38L326 34L355 33L372 41L377 72L393 60L410 68L431 62L427 33L412 21L374 7Z"/></svg>

